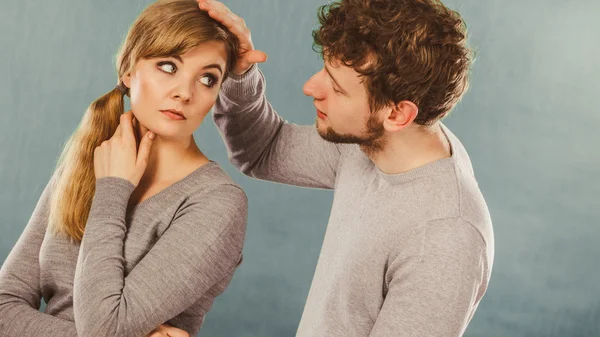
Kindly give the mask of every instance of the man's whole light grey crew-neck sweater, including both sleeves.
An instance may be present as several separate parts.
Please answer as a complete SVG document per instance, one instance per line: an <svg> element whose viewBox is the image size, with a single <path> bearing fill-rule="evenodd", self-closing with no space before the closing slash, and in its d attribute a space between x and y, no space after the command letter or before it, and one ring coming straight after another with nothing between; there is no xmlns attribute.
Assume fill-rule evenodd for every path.
<svg viewBox="0 0 600 337"><path fill-rule="evenodd" d="M463 334L488 286L494 236L467 152L450 130L442 125L450 158L385 174L358 146L282 120L256 66L225 81L214 119L245 174L334 190L298 337Z"/></svg>

